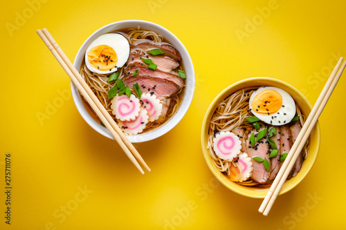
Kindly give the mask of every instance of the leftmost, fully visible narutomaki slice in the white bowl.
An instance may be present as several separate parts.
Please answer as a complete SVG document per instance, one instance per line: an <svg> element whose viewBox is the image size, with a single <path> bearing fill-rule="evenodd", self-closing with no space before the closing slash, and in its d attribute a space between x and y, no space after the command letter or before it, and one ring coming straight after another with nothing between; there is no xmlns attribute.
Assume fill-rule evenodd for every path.
<svg viewBox="0 0 346 230"><path fill-rule="evenodd" d="M113 115L120 121L131 121L138 117L140 111L139 99L135 95L127 97L127 95L116 95L111 99L111 108Z"/></svg>

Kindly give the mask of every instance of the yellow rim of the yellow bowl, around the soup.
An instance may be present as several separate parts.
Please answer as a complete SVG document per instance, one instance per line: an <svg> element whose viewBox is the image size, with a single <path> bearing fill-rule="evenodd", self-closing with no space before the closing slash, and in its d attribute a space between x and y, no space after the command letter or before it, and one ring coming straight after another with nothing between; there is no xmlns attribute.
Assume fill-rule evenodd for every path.
<svg viewBox="0 0 346 230"><path fill-rule="evenodd" d="M271 77L251 77L251 78L247 78L247 79L242 79L239 82L235 82L233 84L231 84L230 86L227 86L224 90L222 90L216 97L215 99L212 100L212 102L210 103L210 105L208 106L208 109L206 111L206 114L203 117L203 122L202 122L202 126L201 126L201 147L202 147L202 153L203 153L203 157L204 160L206 160L206 164L208 165L208 168L210 169L210 171L212 172L212 174L215 176L215 178L217 178L217 180L219 180L219 182L221 182L221 184L224 184L224 186L226 186L226 188L230 189L231 191L238 193L239 195L244 195L248 198L264 198L267 191L268 190L264 190L262 189L260 190L256 190L254 189L253 191L255 191L254 194L248 194L246 193L246 189L243 189L241 185L236 184L234 182L231 182L228 178L226 178L226 176L223 176L221 178L221 175L224 175L223 173L221 173L217 167L213 164L210 154L208 152L208 148L206 146L206 143L208 142L207 137L208 137L208 124L209 124L209 118L211 117L211 113L212 111L215 111L215 107L216 105L221 101L221 99L224 99L225 97L227 97L228 95L230 95L231 93L234 93L232 91L230 91L232 88L235 88L239 85L245 84L246 82L253 82L253 81L268 81L268 82L273 82L273 84L282 84L283 86L286 86L288 88L291 88L291 90L295 91L298 94L298 97L302 98L304 100L304 102L307 103L307 106L309 106L309 109L311 111L312 106L309 102L309 100L302 94L300 93L299 90L297 90L295 87L291 86L290 84L283 82L279 79L275 79L275 78L271 78ZM265 84L264 84L265 85ZM276 86L278 87L278 86ZM280 88L280 87L278 87ZM230 92L228 92L230 91ZM316 123L316 126L313 128L313 132L316 132L316 154L313 155L313 157L311 157L312 159L310 160L311 163L309 165L309 168L307 168L306 172L304 173L304 175L301 175L300 178L298 178L297 180L295 180L295 183L292 184L289 187L286 187L284 189L284 186L282 188L282 190L280 191L279 195L282 195L288 191L291 191L291 189L293 189L295 186L297 186L309 173L309 171L311 171L313 165L316 162L316 159L318 157L318 152L320 149L320 124L319 122ZM312 132L311 132L312 133ZM207 140L207 141L205 141ZM304 164L303 164L304 166ZM299 173L298 173L299 174ZM232 185L231 185L232 184ZM235 189L235 188L242 188L242 189ZM240 191L239 191L240 190Z"/></svg>

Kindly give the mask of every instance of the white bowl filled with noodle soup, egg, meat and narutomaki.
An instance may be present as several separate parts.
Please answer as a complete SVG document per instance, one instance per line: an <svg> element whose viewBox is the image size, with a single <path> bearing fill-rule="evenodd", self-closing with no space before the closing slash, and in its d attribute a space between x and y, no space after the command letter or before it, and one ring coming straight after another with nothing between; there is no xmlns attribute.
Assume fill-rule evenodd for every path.
<svg viewBox="0 0 346 230"><path fill-rule="evenodd" d="M112 47L110 39L124 40L118 37L125 38L128 49L123 45L120 50ZM118 21L100 28L84 42L74 66L131 142L152 140L170 131L192 101L194 70L190 56L179 39L154 23ZM76 95L73 85L72 91L86 122L112 138L81 95ZM123 116L130 111L134 114Z"/></svg>

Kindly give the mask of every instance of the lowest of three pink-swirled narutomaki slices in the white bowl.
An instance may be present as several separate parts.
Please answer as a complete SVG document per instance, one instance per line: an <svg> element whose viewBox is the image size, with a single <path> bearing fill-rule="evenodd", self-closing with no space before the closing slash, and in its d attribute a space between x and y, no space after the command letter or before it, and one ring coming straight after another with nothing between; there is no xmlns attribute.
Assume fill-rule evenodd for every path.
<svg viewBox="0 0 346 230"><path fill-rule="evenodd" d="M147 111L143 108L140 108L140 112L138 117L133 121L119 121L118 126L124 133L128 135L136 135L137 133L141 133L145 126L148 123L149 116L147 115Z"/></svg>

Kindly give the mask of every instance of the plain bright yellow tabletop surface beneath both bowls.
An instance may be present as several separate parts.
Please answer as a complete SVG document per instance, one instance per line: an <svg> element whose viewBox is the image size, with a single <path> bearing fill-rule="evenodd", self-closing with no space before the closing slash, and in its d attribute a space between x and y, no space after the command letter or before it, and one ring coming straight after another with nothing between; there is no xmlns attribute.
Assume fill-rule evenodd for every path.
<svg viewBox="0 0 346 230"><path fill-rule="evenodd" d="M345 76L320 118L315 166L268 217L257 212L262 200L215 180L200 143L210 102L241 79L281 79L313 104L331 66L346 55L345 7L345 1L283 0L2 3L0 229L345 229ZM123 19L172 31L196 71L182 121L157 140L135 144L152 169L145 175L84 122L66 93L69 78L35 32L48 28L73 60L93 31Z"/></svg>

